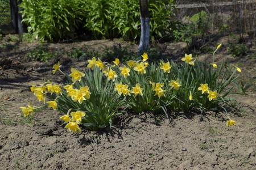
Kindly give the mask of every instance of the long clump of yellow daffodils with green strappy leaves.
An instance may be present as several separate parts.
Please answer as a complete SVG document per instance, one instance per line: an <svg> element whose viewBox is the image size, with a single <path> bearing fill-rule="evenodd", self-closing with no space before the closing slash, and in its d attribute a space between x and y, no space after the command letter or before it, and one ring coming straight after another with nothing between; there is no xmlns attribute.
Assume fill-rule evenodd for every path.
<svg viewBox="0 0 256 170"><path fill-rule="evenodd" d="M60 119L66 124L65 128L77 133L81 132L80 126L95 129L104 128L106 124L111 126L112 118L121 114L118 112L120 108L130 107L138 113L162 108L167 114L167 108L186 108L188 111L197 106L216 107L223 100L224 85L228 86L235 79L219 85L218 76L225 75L215 75L222 73L217 70L224 67L213 62L208 63L211 67L200 70L192 54L185 54L180 66L172 61L149 64L147 53L141 57L126 63L121 63L118 58L107 63L93 57L88 59L85 73L72 67L70 74L61 71L58 62L53 65L52 73L65 74L69 82L60 85L46 81L33 84L30 90L43 104L63 112ZM241 72L237 66L234 68L234 72ZM208 74L206 71L212 72ZM36 107L20 108L23 116L28 117L34 114ZM236 125L236 122L229 120L226 125Z"/></svg>

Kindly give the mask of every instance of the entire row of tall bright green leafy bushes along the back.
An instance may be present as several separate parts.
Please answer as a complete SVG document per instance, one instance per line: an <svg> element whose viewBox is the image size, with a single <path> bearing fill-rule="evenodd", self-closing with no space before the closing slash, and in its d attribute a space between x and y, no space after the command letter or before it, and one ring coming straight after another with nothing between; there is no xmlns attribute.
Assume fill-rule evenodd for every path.
<svg viewBox="0 0 256 170"><path fill-rule="evenodd" d="M37 39L67 39L84 30L96 38L121 36L137 41L141 33L137 0L24 0L20 7L23 23L28 25L28 32L36 34ZM149 8L151 38L154 41L170 32L174 1L150 1ZM82 29L83 26L85 28Z"/></svg>

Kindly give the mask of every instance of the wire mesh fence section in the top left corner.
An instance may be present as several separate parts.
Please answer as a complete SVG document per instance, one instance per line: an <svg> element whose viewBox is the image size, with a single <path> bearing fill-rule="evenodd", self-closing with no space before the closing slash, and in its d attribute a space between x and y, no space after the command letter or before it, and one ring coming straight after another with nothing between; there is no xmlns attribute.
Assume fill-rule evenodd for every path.
<svg viewBox="0 0 256 170"><path fill-rule="evenodd" d="M14 33L10 0L0 0L0 29L3 33Z"/></svg>

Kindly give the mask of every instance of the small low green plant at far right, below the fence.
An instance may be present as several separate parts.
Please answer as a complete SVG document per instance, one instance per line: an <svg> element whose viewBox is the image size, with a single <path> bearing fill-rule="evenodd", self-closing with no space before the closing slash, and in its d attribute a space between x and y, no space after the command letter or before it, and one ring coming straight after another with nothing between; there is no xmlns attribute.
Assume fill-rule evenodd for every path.
<svg viewBox="0 0 256 170"><path fill-rule="evenodd" d="M233 57L244 56L247 54L248 50L249 46L245 44L230 43L228 47L228 52L230 52Z"/></svg>

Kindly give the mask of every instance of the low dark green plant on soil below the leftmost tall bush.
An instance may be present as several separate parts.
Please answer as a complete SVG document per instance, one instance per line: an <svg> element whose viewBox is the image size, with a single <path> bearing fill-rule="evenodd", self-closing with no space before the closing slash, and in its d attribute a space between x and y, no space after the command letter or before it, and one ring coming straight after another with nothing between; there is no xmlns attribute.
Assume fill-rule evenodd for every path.
<svg viewBox="0 0 256 170"><path fill-rule="evenodd" d="M30 50L25 58L28 61L43 61L47 62L50 61L53 57L56 56L56 52L50 52L47 46L39 45L36 49Z"/></svg>

